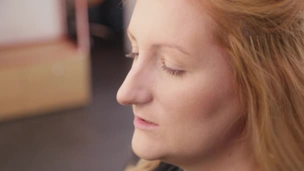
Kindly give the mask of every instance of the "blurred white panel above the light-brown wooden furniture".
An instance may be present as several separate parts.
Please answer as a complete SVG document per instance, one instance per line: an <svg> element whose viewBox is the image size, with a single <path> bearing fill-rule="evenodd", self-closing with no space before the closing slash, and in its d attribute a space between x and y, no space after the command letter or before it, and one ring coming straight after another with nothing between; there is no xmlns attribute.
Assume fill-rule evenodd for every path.
<svg viewBox="0 0 304 171"><path fill-rule="evenodd" d="M56 39L65 32L63 0L0 0L0 45Z"/></svg>

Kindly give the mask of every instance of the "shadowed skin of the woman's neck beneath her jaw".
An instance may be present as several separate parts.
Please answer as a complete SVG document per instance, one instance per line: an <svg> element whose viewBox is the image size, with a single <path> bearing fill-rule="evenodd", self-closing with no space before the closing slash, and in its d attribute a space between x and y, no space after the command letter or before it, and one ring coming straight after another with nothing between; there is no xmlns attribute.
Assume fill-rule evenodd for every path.
<svg viewBox="0 0 304 171"><path fill-rule="evenodd" d="M208 171L257 171L252 152L245 140L238 140L225 147L217 148L212 153L196 161L178 165L184 171L208 170Z"/></svg>

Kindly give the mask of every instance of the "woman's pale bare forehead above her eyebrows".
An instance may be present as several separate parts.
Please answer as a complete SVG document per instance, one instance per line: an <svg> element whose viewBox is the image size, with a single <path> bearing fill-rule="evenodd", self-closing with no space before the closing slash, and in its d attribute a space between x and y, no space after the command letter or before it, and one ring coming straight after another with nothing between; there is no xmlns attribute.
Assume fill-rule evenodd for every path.
<svg viewBox="0 0 304 171"><path fill-rule="evenodd" d="M212 19L194 0L137 0L129 30L137 41L193 46L212 39Z"/></svg>

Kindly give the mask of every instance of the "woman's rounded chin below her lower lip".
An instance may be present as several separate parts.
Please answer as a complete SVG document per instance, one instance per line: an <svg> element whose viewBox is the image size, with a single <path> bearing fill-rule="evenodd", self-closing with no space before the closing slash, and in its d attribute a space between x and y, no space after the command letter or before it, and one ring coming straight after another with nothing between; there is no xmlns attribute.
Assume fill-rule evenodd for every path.
<svg viewBox="0 0 304 171"><path fill-rule="evenodd" d="M149 134L141 130L134 130L132 137L132 150L140 158L145 160L157 160L163 158L165 151L161 150L161 142L153 139Z"/></svg>

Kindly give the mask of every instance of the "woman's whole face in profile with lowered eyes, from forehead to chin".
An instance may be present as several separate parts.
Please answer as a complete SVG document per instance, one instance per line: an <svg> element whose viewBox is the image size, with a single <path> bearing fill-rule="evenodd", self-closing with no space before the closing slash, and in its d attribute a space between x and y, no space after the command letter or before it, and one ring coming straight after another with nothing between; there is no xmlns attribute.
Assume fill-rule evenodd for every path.
<svg viewBox="0 0 304 171"><path fill-rule="evenodd" d="M213 27L189 0L137 0L128 27L135 57L117 100L137 116L138 156L194 162L236 136L243 107Z"/></svg>

